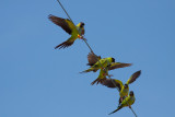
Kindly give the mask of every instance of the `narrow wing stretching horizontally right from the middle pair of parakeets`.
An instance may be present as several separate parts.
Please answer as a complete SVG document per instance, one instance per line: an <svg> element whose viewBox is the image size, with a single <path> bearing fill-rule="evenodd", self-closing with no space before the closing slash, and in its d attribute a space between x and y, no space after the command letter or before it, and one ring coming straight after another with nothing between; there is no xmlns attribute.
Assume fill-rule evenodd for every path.
<svg viewBox="0 0 175 117"><path fill-rule="evenodd" d="M130 67L132 63L114 62L109 66L108 70L114 70L118 68Z"/></svg>

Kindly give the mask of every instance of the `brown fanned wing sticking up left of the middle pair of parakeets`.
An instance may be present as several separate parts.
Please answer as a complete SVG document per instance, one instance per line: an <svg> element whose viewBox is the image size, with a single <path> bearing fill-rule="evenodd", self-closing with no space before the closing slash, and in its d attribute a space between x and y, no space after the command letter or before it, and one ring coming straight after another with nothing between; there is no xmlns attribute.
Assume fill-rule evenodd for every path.
<svg viewBox="0 0 175 117"><path fill-rule="evenodd" d="M97 59L100 60L101 59L101 56L96 56L95 54L93 52L89 52L88 55L88 60L89 60L89 66L93 66L97 62Z"/></svg>

